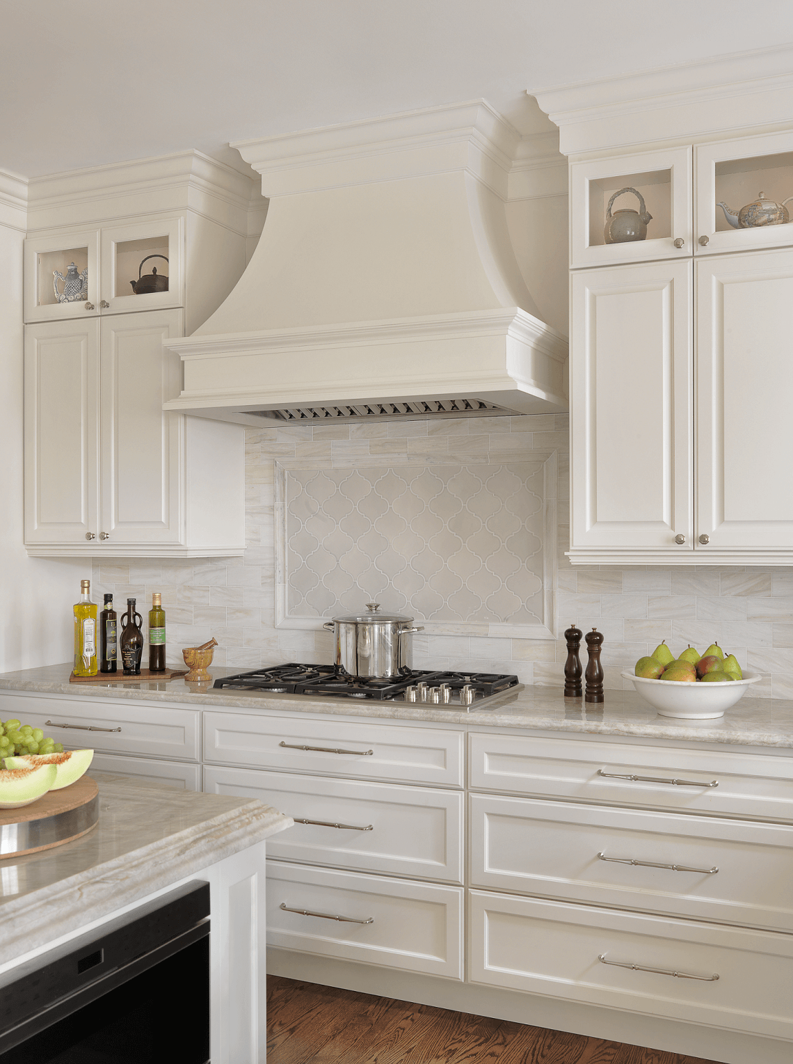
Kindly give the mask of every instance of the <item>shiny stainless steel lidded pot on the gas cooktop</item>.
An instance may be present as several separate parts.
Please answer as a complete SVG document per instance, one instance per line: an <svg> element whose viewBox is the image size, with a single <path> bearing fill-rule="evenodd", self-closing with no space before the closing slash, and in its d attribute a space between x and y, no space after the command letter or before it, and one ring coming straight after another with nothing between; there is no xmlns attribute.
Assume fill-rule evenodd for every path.
<svg viewBox="0 0 793 1064"><path fill-rule="evenodd" d="M348 676L390 680L412 668L412 617L378 613L378 602L367 602L367 613L334 617L322 626L336 636L336 669Z"/></svg>

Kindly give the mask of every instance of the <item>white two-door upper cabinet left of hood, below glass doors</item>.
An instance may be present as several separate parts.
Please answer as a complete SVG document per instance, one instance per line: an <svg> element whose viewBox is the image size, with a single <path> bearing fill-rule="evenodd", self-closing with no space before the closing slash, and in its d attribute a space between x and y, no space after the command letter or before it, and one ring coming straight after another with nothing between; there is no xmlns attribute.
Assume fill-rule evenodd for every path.
<svg viewBox="0 0 793 1064"><path fill-rule="evenodd" d="M182 332L180 310L26 328L29 554L242 552L243 430L162 409Z"/></svg>

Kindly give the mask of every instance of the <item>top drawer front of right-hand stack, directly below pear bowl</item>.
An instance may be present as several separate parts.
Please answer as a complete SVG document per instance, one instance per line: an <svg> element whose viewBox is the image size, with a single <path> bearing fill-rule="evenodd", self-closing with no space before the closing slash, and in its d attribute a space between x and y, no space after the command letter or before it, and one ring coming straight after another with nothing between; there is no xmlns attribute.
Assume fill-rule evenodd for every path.
<svg viewBox="0 0 793 1064"><path fill-rule="evenodd" d="M793 758L572 737L476 733L470 741L477 789L793 821Z"/></svg>

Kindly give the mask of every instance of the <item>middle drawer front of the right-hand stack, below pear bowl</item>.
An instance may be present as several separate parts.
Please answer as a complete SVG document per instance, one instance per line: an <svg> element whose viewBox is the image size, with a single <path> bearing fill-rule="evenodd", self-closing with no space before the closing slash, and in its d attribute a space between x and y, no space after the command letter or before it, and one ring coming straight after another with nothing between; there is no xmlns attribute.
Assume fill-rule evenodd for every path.
<svg viewBox="0 0 793 1064"><path fill-rule="evenodd" d="M470 802L472 886L793 931L793 828L530 798Z"/></svg>

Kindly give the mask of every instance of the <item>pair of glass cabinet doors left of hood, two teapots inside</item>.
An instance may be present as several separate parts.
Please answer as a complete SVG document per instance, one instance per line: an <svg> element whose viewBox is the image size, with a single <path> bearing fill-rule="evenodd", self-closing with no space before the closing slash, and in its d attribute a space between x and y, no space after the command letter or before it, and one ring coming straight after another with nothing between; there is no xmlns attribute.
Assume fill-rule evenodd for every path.
<svg viewBox="0 0 793 1064"><path fill-rule="evenodd" d="M171 215L24 242L24 320L184 304L184 218Z"/></svg>

